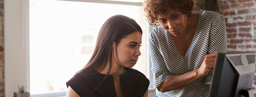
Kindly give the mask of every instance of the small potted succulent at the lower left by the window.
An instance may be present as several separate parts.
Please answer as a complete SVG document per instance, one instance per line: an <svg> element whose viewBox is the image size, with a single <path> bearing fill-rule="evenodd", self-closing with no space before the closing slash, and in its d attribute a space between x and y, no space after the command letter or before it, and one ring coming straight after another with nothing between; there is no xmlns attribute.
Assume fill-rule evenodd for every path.
<svg viewBox="0 0 256 97"><path fill-rule="evenodd" d="M30 97L29 92L26 92L27 86L18 85L19 92L14 92L14 97Z"/></svg>

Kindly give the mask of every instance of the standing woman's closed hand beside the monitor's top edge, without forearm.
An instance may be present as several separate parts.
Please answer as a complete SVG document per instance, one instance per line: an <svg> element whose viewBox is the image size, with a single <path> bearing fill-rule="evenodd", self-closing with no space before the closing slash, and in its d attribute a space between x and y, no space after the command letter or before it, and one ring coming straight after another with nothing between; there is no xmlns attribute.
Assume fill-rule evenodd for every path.
<svg viewBox="0 0 256 97"><path fill-rule="evenodd" d="M200 77L204 77L207 73L214 68L215 60L218 52L207 54L200 68L198 68L198 74Z"/></svg>

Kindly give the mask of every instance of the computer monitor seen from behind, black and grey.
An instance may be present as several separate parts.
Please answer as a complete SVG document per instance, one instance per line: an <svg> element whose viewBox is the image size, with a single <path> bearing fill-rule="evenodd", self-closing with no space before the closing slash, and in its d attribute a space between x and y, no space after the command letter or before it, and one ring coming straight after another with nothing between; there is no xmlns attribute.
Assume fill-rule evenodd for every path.
<svg viewBox="0 0 256 97"><path fill-rule="evenodd" d="M254 97L255 52L218 53L210 97Z"/></svg>

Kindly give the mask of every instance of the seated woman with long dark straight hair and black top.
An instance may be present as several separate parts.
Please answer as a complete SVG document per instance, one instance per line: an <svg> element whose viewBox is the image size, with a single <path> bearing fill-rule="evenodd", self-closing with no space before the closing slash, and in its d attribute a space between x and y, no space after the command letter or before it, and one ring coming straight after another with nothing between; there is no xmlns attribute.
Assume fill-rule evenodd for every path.
<svg viewBox="0 0 256 97"><path fill-rule="evenodd" d="M93 54L68 82L67 97L147 97L149 80L132 69L140 56L142 29L114 15L102 25Z"/></svg>

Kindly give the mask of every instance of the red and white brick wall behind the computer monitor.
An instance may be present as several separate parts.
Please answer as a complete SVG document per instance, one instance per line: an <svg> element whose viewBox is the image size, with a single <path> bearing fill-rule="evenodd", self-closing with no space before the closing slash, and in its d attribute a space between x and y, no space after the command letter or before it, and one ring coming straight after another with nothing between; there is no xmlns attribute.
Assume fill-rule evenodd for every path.
<svg viewBox="0 0 256 97"><path fill-rule="evenodd" d="M228 52L256 52L256 0L217 0L217 4L226 20ZM256 97L256 76L253 88Z"/></svg>

